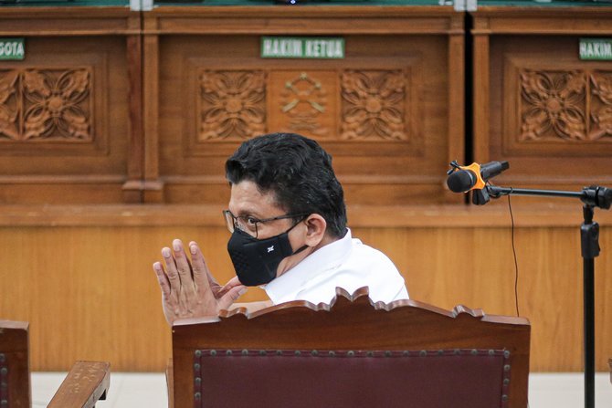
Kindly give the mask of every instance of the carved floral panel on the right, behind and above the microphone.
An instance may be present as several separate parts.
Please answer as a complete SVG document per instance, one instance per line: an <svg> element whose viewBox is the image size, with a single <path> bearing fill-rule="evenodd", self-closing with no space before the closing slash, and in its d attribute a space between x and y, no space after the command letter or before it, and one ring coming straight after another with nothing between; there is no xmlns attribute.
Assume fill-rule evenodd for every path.
<svg viewBox="0 0 612 408"><path fill-rule="evenodd" d="M612 136L609 72L523 69L520 78L520 141L602 141Z"/></svg>

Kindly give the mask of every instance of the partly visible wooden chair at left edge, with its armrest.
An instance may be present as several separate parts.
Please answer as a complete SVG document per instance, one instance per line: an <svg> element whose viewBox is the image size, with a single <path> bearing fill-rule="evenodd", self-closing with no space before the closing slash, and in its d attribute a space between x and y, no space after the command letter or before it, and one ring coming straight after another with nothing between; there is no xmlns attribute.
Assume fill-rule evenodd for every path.
<svg viewBox="0 0 612 408"><path fill-rule="evenodd" d="M77 361L47 407L93 407L109 384L108 362ZM29 408L31 399L28 323L0 320L0 407Z"/></svg>

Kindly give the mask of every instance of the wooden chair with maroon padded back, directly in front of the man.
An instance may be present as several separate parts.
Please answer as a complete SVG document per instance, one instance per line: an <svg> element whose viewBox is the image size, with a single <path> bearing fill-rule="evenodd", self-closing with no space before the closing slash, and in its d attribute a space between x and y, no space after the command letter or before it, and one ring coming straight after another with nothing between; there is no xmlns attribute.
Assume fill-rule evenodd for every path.
<svg viewBox="0 0 612 408"><path fill-rule="evenodd" d="M373 304L367 288L220 315L174 323L170 406L527 406L527 319Z"/></svg>

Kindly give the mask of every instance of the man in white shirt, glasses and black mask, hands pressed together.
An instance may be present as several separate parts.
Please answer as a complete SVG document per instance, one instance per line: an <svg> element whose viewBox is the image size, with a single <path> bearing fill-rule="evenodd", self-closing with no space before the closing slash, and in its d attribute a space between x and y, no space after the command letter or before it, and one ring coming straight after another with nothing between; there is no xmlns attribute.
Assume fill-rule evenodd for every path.
<svg viewBox="0 0 612 408"><path fill-rule="evenodd" d="M353 239L346 227L343 188L332 157L316 141L273 133L245 141L226 162L231 185L224 211L232 233L227 251L237 277L216 283L195 242L162 249L164 267L153 264L164 315L175 319L216 315L229 309L248 286L261 286L271 302L329 303L335 288L349 293L369 287L385 303L408 298L404 278L382 252Z"/></svg>

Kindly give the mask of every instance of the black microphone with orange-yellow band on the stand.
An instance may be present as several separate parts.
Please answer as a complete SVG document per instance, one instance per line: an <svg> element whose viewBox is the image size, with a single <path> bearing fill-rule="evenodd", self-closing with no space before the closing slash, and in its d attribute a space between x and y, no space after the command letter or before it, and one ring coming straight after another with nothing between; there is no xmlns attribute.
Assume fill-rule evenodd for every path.
<svg viewBox="0 0 612 408"><path fill-rule="evenodd" d="M489 179L510 168L508 162L471 163L459 166L455 161L450 163L447 185L453 193L467 193L470 190L482 190Z"/></svg>

